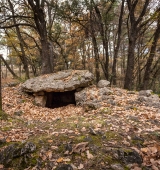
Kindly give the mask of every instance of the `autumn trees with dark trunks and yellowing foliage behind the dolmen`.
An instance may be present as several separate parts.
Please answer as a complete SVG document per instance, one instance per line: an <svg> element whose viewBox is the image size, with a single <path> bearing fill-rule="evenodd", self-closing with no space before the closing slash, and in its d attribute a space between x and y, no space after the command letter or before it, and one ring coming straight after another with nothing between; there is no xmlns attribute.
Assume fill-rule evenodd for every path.
<svg viewBox="0 0 160 170"><path fill-rule="evenodd" d="M26 78L89 69L126 89L160 86L157 0L3 0L1 45Z"/></svg>

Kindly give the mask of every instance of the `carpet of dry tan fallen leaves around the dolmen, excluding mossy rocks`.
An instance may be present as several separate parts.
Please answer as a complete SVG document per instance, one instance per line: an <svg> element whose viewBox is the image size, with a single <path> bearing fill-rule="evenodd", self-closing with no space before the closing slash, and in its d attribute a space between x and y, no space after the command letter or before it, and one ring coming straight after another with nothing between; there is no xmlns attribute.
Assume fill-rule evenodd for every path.
<svg viewBox="0 0 160 170"><path fill-rule="evenodd" d="M46 141L50 148L40 154L42 160L54 162L55 167L63 163L73 163L77 169L86 169L85 163L96 159L98 154L92 155L94 152L92 152L89 142L78 141L78 143L76 141L74 143L74 139L77 139L76 137L81 134L98 138L104 137L103 147L107 145L112 145L113 147L125 145L128 148L135 149L142 156L144 166L150 166L153 170L158 170L158 167L160 167L160 145L156 144L156 137L155 140L141 141L138 146L132 143L133 134L139 137L141 135L147 136L151 133L159 135L160 130L160 114L156 108L143 105L128 107L129 103L134 105L137 93L128 95L127 91L119 89L122 95L113 95L117 105L107 106L111 113L102 114L98 110L84 112L83 108L71 105L56 109L37 107L33 104L31 96L25 96L23 93L20 95L20 92L17 90L18 88L3 89L4 110L13 118L16 117L19 121L23 122L22 125L12 121L8 122L8 124L5 121L0 122L1 127L6 127L6 125L9 127L7 130L3 129L0 133L0 139L5 138L7 143L15 141L23 142L33 136L45 134L50 136ZM113 91L116 90L113 89ZM17 110L22 111L23 114L20 116L14 115ZM103 108L100 110L103 110ZM70 122L72 126L63 127L72 117L74 117ZM80 119L82 120L80 121ZM56 127L57 122L59 124ZM23 127L24 125L25 127ZM105 134L108 131L121 134L122 140L115 137L112 138L112 136L107 136L107 139L105 139ZM72 147L70 150L63 150L57 154L60 144L65 143L64 141L59 141L62 135L66 135L67 140L73 141ZM60 143L59 145L54 143L53 137L57 139L57 143ZM97 150L97 152L100 151ZM75 157L81 162L73 159L73 155L78 155L78 157ZM77 162L75 163L74 161ZM1 167L3 165L0 165ZM133 166L132 169L141 170L138 165Z"/></svg>

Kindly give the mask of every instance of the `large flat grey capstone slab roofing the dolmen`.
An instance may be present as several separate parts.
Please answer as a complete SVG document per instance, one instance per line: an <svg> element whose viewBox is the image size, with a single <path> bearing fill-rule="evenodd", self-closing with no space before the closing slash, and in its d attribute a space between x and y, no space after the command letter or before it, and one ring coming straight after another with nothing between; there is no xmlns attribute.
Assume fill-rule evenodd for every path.
<svg viewBox="0 0 160 170"><path fill-rule="evenodd" d="M93 78L88 70L65 70L28 79L22 84L22 89L33 93L72 91L87 87Z"/></svg>

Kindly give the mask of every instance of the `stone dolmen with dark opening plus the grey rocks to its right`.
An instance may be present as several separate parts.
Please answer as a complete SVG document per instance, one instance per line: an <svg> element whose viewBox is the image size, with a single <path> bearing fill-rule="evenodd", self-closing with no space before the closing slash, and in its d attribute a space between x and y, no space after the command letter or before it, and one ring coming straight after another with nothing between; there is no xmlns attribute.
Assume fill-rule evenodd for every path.
<svg viewBox="0 0 160 170"><path fill-rule="evenodd" d="M22 89L33 93L35 104L42 107L74 104L91 110L116 105L115 92L109 87L110 82L100 80L95 86L93 80L94 76L88 70L65 70L29 79L22 85ZM116 91L116 95L122 95L121 89ZM135 92L128 92L128 95L132 94ZM133 102L160 108L159 96L153 94L152 90L140 91L138 99Z"/></svg>

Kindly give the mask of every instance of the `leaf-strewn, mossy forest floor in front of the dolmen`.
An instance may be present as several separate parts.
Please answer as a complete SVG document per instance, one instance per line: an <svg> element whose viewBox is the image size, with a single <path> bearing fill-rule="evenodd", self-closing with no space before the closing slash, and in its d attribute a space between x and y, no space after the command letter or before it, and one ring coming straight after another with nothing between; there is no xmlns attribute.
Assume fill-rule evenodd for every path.
<svg viewBox="0 0 160 170"><path fill-rule="evenodd" d="M119 90L116 105L85 111L38 107L20 85L3 87L8 117L0 117L0 158L14 143L32 142L36 150L8 165L0 162L0 169L159 170L160 111L135 104L138 92Z"/></svg>

